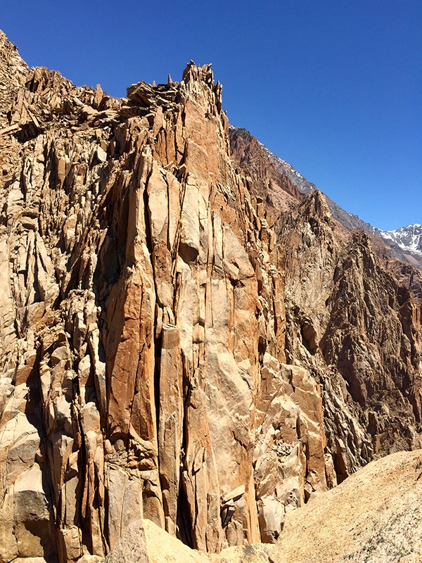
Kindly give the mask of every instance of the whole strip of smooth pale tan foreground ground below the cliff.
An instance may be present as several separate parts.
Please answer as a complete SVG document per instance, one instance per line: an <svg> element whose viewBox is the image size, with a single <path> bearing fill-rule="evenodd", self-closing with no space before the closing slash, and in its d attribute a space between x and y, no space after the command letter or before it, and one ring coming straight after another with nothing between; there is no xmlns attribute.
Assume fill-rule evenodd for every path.
<svg viewBox="0 0 422 563"><path fill-rule="evenodd" d="M286 514L276 545L226 548L218 555L191 550L153 522L137 521L106 562L420 562L421 474L422 450L388 455Z"/></svg>

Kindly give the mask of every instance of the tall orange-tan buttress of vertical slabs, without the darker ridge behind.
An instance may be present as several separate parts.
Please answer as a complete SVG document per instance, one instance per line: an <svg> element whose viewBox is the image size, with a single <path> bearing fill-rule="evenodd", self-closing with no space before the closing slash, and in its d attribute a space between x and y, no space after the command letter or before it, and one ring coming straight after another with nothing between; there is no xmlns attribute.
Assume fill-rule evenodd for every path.
<svg viewBox="0 0 422 563"><path fill-rule="evenodd" d="M270 524L254 450L264 362L265 400L281 393L283 277L221 86L193 63L122 100L43 68L21 82L1 135L2 557L106 555L140 517L211 552L272 538L290 491L274 474ZM31 495L44 509L22 515Z"/></svg>

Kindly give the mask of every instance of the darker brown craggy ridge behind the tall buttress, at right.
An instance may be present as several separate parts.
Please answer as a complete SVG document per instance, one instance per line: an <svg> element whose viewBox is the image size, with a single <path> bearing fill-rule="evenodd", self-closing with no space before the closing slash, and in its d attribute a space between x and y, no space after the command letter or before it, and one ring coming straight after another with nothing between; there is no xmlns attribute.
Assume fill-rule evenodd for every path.
<svg viewBox="0 0 422 563"><path fill-rule="evenodd" d="M348 234L333 222L319 192L283 220L279 244L286 356L321 384L338 477L373 453L417 448L420 301L381 266L365 234Z"/></svg>

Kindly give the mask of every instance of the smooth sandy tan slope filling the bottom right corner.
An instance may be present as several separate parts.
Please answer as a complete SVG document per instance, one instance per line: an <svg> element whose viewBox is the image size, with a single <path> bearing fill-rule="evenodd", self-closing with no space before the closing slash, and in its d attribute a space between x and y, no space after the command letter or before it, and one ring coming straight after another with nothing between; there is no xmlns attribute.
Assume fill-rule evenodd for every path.
<svg viewBox="0 0 422 563"><path fill-rule="evenodd" d="M368 464L287 515L274 563L422 562L422 451Z"/></svg>

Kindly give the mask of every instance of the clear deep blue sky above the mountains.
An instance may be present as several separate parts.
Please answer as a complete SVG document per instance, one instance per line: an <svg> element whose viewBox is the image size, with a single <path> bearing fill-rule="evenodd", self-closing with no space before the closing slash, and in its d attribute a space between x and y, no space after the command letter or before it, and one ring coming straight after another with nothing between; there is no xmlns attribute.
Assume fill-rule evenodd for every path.
<svg viewBox="0 0 422 563"><path fill-rule="evenodd" d="M4 0L0 27L115 96L213 63L233 125L376 227L422 223L421 0Z"/></svg>

